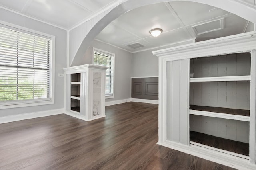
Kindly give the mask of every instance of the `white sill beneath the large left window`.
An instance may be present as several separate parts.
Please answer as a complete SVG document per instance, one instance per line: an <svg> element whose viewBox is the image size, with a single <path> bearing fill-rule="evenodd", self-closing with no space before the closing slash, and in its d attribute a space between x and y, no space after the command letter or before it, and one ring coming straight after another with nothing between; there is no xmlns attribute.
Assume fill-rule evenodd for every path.
<svg viewBox="0 0 256 170"><path fill-rule="evenodd" d="M1 104L1 102L0 102ZM6 103L2 104L0 106L1 109L12 109L12 108L18 108L18 107L30 107L30 106L40 106L40 105L46 105L46 104L54 104L54 100L42 100L42 101L34 101L34 102L12 102L12 103Z"/></svg>

